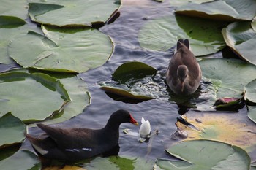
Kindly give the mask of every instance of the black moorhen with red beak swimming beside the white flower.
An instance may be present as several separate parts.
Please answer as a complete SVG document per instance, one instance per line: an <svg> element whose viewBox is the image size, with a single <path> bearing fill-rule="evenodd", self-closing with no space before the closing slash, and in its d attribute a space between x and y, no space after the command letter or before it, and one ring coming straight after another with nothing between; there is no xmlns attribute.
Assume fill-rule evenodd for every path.
<svg viewBox="0 0 256 170"><path fill-rule="evenodd" d="M78 161L100 155L116 147L121 123L138 125L128 111L120 109L113 112L108 123L102 129L62 129L39 123L37 126L45 131L45 137L35 138L26 134L26 138L43 158Z"/></svg>

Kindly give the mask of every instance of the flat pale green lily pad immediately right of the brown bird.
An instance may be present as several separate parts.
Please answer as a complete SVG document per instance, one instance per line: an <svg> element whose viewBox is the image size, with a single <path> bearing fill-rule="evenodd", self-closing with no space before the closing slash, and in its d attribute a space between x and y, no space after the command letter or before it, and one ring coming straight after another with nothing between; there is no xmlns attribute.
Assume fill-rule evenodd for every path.
<svg viewBox="0 0 256 170"><path fill-rule="evenodd" d="M242 98L244 86L256 78L256 66L241 60L204 59L198 63L203 77L217 88L217 98Z"/></svg>

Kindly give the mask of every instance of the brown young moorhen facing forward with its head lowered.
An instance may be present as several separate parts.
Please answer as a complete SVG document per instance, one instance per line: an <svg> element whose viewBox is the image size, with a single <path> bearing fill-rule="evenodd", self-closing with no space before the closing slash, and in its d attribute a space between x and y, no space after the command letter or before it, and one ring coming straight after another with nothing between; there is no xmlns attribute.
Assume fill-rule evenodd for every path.
<svg viewBox="0 0 256 170"><path fill-rule="evenodd" d="M202 72L195 55L189 48L188 39L178 39L176 51L165 74L167 85L177 95L187 96L200 85Z"/></svg>

